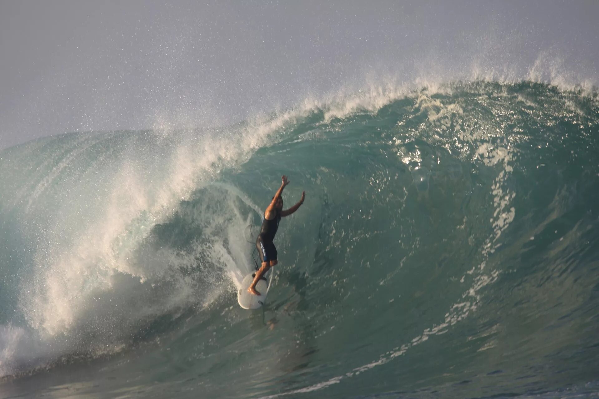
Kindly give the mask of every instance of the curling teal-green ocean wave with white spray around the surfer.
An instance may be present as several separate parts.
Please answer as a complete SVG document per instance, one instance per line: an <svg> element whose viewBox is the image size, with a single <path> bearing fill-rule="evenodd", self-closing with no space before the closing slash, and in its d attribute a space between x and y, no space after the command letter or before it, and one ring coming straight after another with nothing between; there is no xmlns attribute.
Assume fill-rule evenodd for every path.
<svg viewBox="0 0 599 399"><path fill-rule="evenodd" d="M368 87L2 150L0 397L597 397L598 100Z"/></svg>

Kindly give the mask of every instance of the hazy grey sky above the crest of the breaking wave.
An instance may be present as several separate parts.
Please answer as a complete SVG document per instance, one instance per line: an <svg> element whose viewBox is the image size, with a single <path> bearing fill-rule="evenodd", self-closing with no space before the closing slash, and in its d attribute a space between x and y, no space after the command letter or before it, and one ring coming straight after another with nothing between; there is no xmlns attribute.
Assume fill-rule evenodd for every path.
<svg viewBox="0 0 599 399"><path fill-rule="evenodd" d="M596 84L599 1L0 0L0 148L214 125L365 82Z"/></svg>

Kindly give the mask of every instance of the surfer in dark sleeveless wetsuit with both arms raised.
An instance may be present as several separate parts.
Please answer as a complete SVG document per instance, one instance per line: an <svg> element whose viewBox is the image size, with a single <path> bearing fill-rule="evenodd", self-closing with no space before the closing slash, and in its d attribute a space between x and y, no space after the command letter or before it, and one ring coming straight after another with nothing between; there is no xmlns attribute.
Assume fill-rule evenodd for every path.
<svg viewBox="0 0 599 399"><path fill-rule="evenodd" d="M268 205L268 208L266 208L266 211L264 211L264 221L262 221L261 231L256 240L256 246L262 260L262 267L256 272L254 281L250 285L250 288L247 289L250 294L261 295L256 291L256 284L258 284L264 273L277 264L277 249L273 244L273 238L277 233L277 229L279 229L279 220L293 214L304 203L305 191L302 191L301 200L291 208L283 211L281 193L283 193L283 188L289 184L289 180L286 175L283 175L281 176L281 181L281 187L274 194L273 200Z"/></svg>

